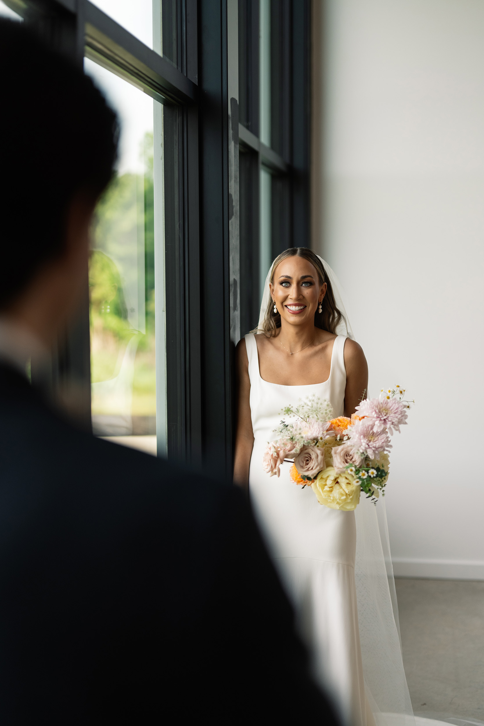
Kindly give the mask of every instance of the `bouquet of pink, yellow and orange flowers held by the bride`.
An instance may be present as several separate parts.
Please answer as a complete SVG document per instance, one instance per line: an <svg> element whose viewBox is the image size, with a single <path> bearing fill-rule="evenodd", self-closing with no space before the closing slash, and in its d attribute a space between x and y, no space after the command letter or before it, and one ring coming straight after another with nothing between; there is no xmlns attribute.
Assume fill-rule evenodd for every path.
<svg viewBox="0 0 484 726"><path fill-rule="evenodd" d="M276 429L279 438L267 444L264 470L279 476L281 464L292 462L292 481L311 486L319 504L330 509L356 509L361 492L376 504L380 492L385 496L390 436L406 424L410 403L404 393L396 386L365 399L351 418L332 418L329 401L316 396L282 409L295 420L282 420Z"/></svg>

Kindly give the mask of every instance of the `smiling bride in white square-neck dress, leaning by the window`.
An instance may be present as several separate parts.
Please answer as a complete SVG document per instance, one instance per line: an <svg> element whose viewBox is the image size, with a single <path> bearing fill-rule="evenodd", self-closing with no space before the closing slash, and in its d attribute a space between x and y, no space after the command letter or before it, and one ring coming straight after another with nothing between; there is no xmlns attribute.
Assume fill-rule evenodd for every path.
<svg viewBox="0 0 484 726"><path fill-rule="evenodd" d="M366 359L348 337L324 264L311 250L285 250L266 285L263 320L237 346L234 481L250 489L321 687L331 691L343 722L364 726L372 720L358 635L354 513L319 507L309 489L292 484L288 465L268 479L263 453L282 409L303 397L326 399L335 416L350 416L366 391ZM342 603L340 612L335 603Z"/></svg>

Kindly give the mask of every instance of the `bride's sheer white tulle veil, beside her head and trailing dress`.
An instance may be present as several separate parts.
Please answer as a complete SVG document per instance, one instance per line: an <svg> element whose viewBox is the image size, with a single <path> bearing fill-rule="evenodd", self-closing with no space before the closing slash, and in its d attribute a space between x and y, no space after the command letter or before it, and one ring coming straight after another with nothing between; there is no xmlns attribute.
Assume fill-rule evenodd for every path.
<svg viewBox="0 0 484 726"><path fill-rule="evenodd" d="M319 259L331 282L337 308L343 314L336 333L353 338L340 282L329 264L323 258ZM264 286L259 329L262 329L268 306L271 272L272 265ZM355 516L356 597L366 698L378 726L414 726L409 688L403 670L385 500L380 498L375 506L369 499L361 499Z"/></svg>

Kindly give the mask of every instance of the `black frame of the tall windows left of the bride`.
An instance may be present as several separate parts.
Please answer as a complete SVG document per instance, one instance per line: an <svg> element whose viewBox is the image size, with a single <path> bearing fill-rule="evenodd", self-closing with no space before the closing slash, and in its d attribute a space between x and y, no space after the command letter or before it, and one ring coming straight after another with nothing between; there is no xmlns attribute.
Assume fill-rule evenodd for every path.
<svg viewBox="0 0 484 726"><path fill-rule="evenodd" d="M258 39L258 20L240 56L245 57L250 78L256 72L257 87L239 73L238 51L241 8L250 6L258 18L258 0L176 0L176 13L171 0L167 12L173 15L171 23L178 33L176 64L149 49L89 0L5 1L47 44L78 65L87 54L165 106L168 457L228 481L234 438L233 351L240 334L247 332L246 261L258 249L254 189L258 191L261 164L289 190L292 227L290 244L284 245L307 244L310 0L278 0L283 15L271 21L273 33L282 38L279 54L290 53L279 83L292 108L290 119L284 115L282 123L287 139L281 153L261 144L258 122L252 129L239 123L241 78L242 91L252 94L250 103L257 106L258 118L254 39L254 33ZM273 15L276 7L273 0ZM34 73L35 69L33 78ZM303 103L296 108L301 93ZM284 103L279 96L273 103L281 110ZM247 188L239 188L240 159L247 153L256 160L251 167L256 174L250 203ZM273 240L274 236L273 232ZM247 246L249 240L252 248ZM273 251L279 242L273 243ZM258 270L250 272L254 274ZM48 386L54 398L73 388L77 403L65 407L81 428L91 431L87 290L86 270L86 298L78 319L60 338L49 370L37 370L33 363L32 378Z"/></svg>

